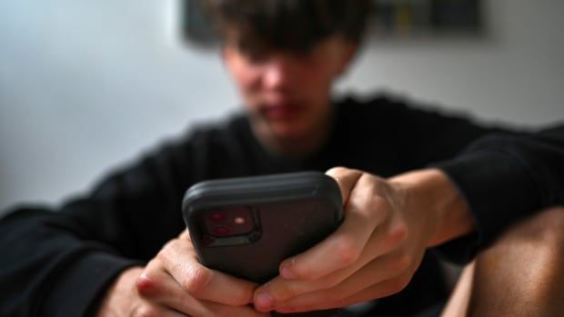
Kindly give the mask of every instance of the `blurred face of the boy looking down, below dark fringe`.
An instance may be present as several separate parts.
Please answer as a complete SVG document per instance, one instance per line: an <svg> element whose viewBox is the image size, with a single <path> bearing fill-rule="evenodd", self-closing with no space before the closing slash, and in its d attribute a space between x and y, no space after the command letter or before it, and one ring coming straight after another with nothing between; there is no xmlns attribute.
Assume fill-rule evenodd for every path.
<svg viewBox="0 0 564 317"><path fill-rule="evenodd" d="M227 37L225 64L257 136L284 147L324 133L331 114L331 85L347 67L354 45L333 36L307 52L293 53L246 52L236 43L237 35Z"/></svg>

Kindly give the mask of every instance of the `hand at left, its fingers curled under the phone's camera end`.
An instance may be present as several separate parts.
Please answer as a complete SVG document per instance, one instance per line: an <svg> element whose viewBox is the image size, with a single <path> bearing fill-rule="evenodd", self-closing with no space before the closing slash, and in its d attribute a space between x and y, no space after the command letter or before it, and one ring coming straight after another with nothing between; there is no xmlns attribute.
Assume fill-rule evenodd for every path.
<svg viewBox="0 0 564 317"><path fill-rule="evenodd" d="M248 306L256 286L198 263L185 231L145 268L122 272L97 316L267 316Z"/></svg>

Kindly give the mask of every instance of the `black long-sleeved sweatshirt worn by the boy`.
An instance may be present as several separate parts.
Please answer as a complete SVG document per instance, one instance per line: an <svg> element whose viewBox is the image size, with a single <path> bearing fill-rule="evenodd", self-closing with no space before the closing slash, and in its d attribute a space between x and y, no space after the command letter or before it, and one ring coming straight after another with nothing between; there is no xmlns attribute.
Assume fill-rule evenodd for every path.
<svg viewBox="0 0 564 317"><path fill-rule="evenodd" d="M202 180L337 165L388 177L434 165L477 221L476 233L438 247L459 263L510 223L564 204L564 126L517 134L383 97L335 107L327 144L304 160L268 153L239 114L163 144L57 210L20 206L0 223L0 316L94 312L120 272L143 265L184 230L182 196ZM401 316L445 296L432 285L440 276L427 258L405 291L378 303L380 315Z"/></svg>

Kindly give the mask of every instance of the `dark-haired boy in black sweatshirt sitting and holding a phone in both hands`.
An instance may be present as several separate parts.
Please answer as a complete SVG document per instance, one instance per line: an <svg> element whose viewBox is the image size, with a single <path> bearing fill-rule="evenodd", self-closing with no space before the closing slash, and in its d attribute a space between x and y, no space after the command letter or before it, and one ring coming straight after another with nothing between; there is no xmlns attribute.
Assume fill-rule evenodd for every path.
<svg viewBox="0 0 564 317"><path fill-rule="evenodd" d="M474 260L445 313L559 312L564 126L523 133L386 96L333 100L369 1L206 5L245 114L163 145L56 213L9 213L0 315L332 314L368 302L336 313L408 316L446 301L438 256ZM180 213L186 188L304 170L339 184L335 233L264 285L197 262Z"/></svg>

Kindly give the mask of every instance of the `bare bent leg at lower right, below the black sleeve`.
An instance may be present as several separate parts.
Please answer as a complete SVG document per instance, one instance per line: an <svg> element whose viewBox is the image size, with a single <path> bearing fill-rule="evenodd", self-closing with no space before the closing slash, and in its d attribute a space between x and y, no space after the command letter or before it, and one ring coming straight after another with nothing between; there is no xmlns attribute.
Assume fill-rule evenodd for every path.
<svg viewBox="0 0 564 317"><path fill-rule="evenodd" d="M564 315L564 207L509 228L468 264L443 316Z"/></svg>

